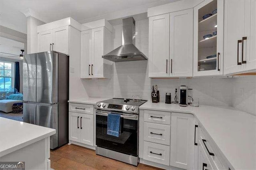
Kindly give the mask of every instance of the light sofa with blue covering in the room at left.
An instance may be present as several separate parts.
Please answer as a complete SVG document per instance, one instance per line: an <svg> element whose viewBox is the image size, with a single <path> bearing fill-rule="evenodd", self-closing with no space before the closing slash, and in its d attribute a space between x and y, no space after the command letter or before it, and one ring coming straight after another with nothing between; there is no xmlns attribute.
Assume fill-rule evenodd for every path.
<svg viewBox="0 0 256 170"><path fill-rule="evenodd" d="M12 105L14 103L20 103L23 100L22 93L12 94L4 100L0 100L0 111L5 113L12 112Z"/></svg>

